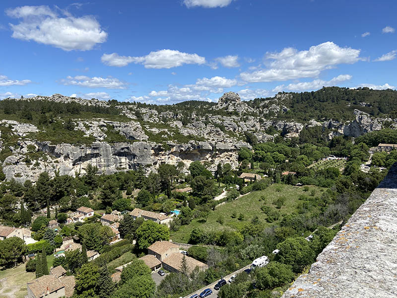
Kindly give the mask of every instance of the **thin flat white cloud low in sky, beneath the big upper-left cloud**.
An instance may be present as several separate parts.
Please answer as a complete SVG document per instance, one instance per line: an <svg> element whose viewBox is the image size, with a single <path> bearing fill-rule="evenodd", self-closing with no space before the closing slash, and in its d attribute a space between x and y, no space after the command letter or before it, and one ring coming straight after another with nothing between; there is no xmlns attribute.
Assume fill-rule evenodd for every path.
<svg viewBox="0 0 397 298"><path fill-rule="evenodd" d="M60 80L63 85L76 85L90 88L108 88L108 89L126 89L127 83L122 82L115 77L103 78L100 76L88 77L86 75L76 75L74 77L68 75Z"/></svg>

